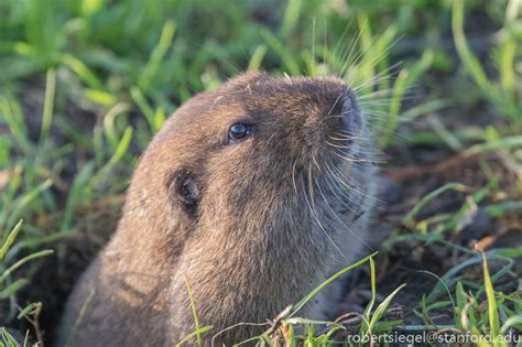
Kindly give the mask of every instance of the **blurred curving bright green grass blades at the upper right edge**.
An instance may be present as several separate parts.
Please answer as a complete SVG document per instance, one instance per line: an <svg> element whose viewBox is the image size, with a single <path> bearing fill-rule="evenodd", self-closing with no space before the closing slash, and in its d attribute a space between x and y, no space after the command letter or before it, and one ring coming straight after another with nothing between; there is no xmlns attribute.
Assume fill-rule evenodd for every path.
<svg viewBox="0 0 522 347"><path fill-rule="evenodd" d="M481 151L497 151L505 166L519 176L522 186L522 162L520 152L522 148L522 79L518 62L522 57L522 35L520 21L522 13L520 1L510 0L505 7L502 29L496 35L496 43L491 53L491 62L497 72L497 77L488 77L486 67L470 50L464 33L465 2L453 2L452 29L457 53L463 62L463 67L478 86L489 104L510 123L508 134L501 135L497 129L489 128L485 131L485 143L476 145L465 155L474 155Z"/></svg>

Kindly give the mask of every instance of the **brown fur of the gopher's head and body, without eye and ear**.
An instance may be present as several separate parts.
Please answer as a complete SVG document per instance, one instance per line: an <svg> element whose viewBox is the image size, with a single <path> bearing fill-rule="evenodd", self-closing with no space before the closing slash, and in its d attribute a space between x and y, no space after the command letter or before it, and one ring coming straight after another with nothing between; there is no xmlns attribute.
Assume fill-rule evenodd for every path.
<svg viewBox="0 0 522 347"><path fill-rule="evenodd" d="M237 121L255 131L227 143ZM195 329L185 279L200 325L214 327L205 345L298 302L348 265L365 237L367 140L352 91L335 78L251 73L195 96L141 158L116 234L68 300L59 344L89 293L72 346L176 344ZM200 189L194 209L170 188L181 171ZM334 171L352 188L341 192ZM300 315L324 317L335 295L323 293ZM230 329L216 346L260 330Z"/></svg>

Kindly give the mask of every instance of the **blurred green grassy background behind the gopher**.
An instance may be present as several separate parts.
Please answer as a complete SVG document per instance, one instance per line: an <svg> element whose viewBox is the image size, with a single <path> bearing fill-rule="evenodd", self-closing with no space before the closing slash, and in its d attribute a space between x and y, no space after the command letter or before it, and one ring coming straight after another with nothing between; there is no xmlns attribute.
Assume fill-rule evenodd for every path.
<svg viewBox="0 0 522 347"><path fill-rule="evenodd" d="M521 41L518 0L1 0L0 326L37 321L41 297L56 319L151 137L247 69L346 78L385 170L425 160L414 147L493 153L485 194L520 210Z"/></svg>

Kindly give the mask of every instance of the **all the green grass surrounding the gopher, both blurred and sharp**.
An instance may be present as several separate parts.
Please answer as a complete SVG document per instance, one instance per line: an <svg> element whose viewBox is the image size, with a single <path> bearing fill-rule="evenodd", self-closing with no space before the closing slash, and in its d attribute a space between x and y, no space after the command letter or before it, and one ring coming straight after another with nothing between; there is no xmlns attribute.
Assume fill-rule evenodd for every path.
<svg viewBox="0 0 522 347"><path fill-rule="evenodd" d="M2 1L0 64L8 68L0 76L0 325L12 329L2 328L0 346L45 339L39 318L56 321L58 313L34 295L48 271L44 261L67 263L74 240L107 238L139 153L167 115L196 91L258 68L345 78L390 160L383 170L398 180L407 171L394 160L398 153L414 156L423 147L449 159L427 172L417 165L416 174L457 174L421 195L406 188L412 202L381 254L367 259L371 297L361 313L324 329L324 323L297 317L303 302L294 303L270 334L253 340L329 346L342 334L362 339L450 330L504 346L486 336L520 333L520 242L491 243L510 229L520 240L521 2L376 3L289 0L264 11L248 1ZM475 180L465 178L468 166ZM441 205L455 195L450 208ZM492 220L478 240L483 253L459 241L481 210ZM458 258L444 269L426 264L441 280L412 310L418 324L390 313L391 301L410 286L379 295L387 286L380 278L393 272L377 275L385 259L412 242ZM514 289L504 292L507 282ZM441 311L453 319L437 323ZM216 333L205 322L198 326L187 340ZM25 340L14 340L17 329Z"/></svg>

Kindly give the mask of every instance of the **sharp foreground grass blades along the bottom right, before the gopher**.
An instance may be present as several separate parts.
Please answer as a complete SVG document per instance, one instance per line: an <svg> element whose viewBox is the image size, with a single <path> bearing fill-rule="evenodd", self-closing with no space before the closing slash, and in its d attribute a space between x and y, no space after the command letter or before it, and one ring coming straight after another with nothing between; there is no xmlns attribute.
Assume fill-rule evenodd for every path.
<svg viewBox="0 0 522 347"><path fill-rule="evenodd" d="M433 301L429 296L425 296L416 311L417 315L423 317L425 325L405 325L401 319L385 319L382 321L387 310L390 306L391 301L396 293L404 288L399 286L388 297L385 297L377 308L376 304L376 269L373 257L369 256L359 262L350 265L340 272L333 275L330 279L322 283L308 295L306 295L295 306L290 306L282 314L271 322L271 328L263 335L254 336L247 340L235 344L233 346L337 346L341 343L354 345L351 341L359 341L368 344L370 341L379 340L380 335L392 333L399 334L418 334L420 332L428 332L423 343L448 343L452 341L460 344L474 344L478 346L509 346L509 341L513 340L513 334L515 330L522 332L522 314L521 314L521 302L520 295L498 293L493 290L493 282L498 281L504 275L513 262L511 261L508 268L503 268L491 276L488 267L489 259L500 259L498 254L483 252L478 253L466 262L466 265L457 267L452 269L446 275L439 278L439 282L432 292L432 295L439 293L438 286L443 286L446 293L449 295L450 301ZM507 258L503 258L504 260ZM300 308L306 304L312 297L314 297L320 290L323 290L328 283L336 280L340 274L352 270L357 267L362 265L366 262L370 262L370 280L371 280L371 300L367 305L363 314L348 315L351 319L345 319L341 322L322 322L313 321L307 318L295 317ZM475 288L472 291L465 291L465 285L458 278L454 282L457 271L461 271L463 268L471 264L482 264L482 278L483 284L479 288ZM455 288L455 297L453 299L449 293L449 286ZM453 306L454 311L454 325L437 325L434 324L429 318L431 311L438 310L445 306ZM193 304L194 307L194 304ZM374 308L374 310L373 310ZM197 314L195 313L195 317ZM347 324L349 324L347 326ZM326 326L326 328L325 328ZM354 333L349 333L348 337L339 339L338 334L347 332L347 327L351 327L352 330L359 332L356 338ZM354 329L355 327L355 329ZM358 328L357 328L358 327ZM233 328L233 327L231 327ZM297 333L298 332L298 333ZM211 327L205 326L197 329L195 333L185 337L177 346L191 340L199 334L211 334ZM356 333L357 334L357 333ZM395 335L396 336L396 335ZM358 345L356 343L355 345Z"/></svg>

